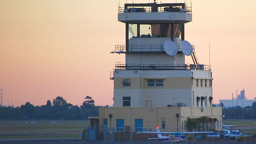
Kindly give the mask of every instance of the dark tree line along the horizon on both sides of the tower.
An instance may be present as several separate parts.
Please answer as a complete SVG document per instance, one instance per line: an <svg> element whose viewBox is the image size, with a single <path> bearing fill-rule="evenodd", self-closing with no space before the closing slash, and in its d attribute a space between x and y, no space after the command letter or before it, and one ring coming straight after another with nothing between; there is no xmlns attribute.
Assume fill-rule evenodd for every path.
<svg viewBox="0 0 256 144"><path fill-rule="evenodd" d="M220 106L224 107L223 103ZM20 107L0 107L0 119L5 120L84 120L88 116L98 116L99 107L95 106L94 100L90 96L85 97L81 106L67 103L64 98L57 96L53 102L48 100L46 105L33 106L30 102ZM109 107L109 106L103 106ZM252 106L228 107L222 109L223 119L256 119L256 102Z"/></svg>

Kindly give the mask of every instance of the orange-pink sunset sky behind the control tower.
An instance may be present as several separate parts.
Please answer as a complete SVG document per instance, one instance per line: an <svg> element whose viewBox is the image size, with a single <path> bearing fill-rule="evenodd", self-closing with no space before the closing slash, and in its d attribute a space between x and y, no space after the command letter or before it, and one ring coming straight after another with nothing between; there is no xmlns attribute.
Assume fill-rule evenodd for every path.
<svg viewBox="0 0 256 144"><path fill-rule="evenodd" d="M153 0L1 0L0 88L3 105L45 105L62 96L80 106L88 95L97 106L113 105L113 71L124 54L125 24L118 3ZM184 0L157 0L184 3ZM190 0L185 0L190 3ZM245 89L256 97L255 0L192 0L185 40L200 64L211 65L214 103ZM190 4L189 4L190 5ZM209 45L210 44L210 45ZM210 50L210 52L209 52ZM186 56L186 63L193 63Z"/></svg>

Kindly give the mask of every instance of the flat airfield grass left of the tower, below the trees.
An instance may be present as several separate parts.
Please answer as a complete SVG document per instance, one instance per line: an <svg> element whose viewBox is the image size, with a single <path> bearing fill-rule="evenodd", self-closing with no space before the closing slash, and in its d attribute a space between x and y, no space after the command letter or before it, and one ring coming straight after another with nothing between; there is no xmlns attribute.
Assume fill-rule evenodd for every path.
<svg viewBox="0 0 256 144"><path fill-rule="evenodd" d="M32 122L32 123L31 123ZM89 120L0 121L0 137L80 137ZM34 123L36 122L36 123Z"/></svg>

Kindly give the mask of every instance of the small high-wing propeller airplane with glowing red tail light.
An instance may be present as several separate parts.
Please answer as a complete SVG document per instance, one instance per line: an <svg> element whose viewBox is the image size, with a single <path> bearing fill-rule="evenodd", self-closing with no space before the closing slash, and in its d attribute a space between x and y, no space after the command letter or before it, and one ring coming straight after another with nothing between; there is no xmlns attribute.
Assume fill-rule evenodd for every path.
<svg viewBox="0 0 256 144"><path fill-rule="evenodd" d="M149 140L171 141L172 143L180 143L180 144L182 144L182 142L185 141L187 137L191 136L194 133L209 133L209 132L160 132L159 126L157 126L156 129L157 129L157 132L137 132L137 133L157 134L158 138L149 138ZM189 134L189 135L184 136L183 134Z"/></svg>

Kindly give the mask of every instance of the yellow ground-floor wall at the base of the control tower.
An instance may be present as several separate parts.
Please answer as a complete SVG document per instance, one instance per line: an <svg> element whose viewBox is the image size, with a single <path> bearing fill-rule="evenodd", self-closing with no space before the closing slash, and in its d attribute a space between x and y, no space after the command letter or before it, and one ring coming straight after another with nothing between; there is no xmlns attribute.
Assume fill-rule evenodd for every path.
<svg viewBox="0 0 256 144"><path fill-rule="evenodd" d="M199 119L201 116L207 116L208 118L216 118L222 122L222 107L205 107L203 112L199 107L152 107L152 108L131 108L131 107L107 107L99 108L99 119L108 119L108 127L110 127L109 114L112 114L111 127L116 128L116 119L125 119L125 126L131 126L131 131L135 131L134 121L135 119L143 119L143 128L151 129L155 131L156 126L161 126L161 121L166 122L166 129L162 131L176 131L177 118L176 114L179 114L178 129L183 131L184 121L188 118ZM185 116L182 118L181 116ZM99 120L103 122L103 120ZM102 126L100 123L99 126ZM220 124L221 126L221 124ZM221 130L220 128L217 130Z"/></svg>

